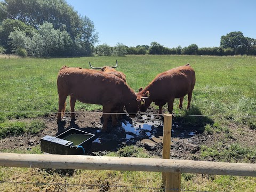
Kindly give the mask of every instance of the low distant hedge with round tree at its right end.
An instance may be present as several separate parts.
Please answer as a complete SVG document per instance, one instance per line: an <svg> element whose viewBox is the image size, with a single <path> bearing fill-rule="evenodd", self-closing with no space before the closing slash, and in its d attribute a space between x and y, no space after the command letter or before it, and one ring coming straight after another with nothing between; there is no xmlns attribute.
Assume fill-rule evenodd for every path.
<svg viewBox="0 0 256 192"><path fill-rule="evenodd" d="M119 52L116 51L116 47L119 47ZM96 46L94 53L100 56L122 56L125 54L256 55L256 39L244 37L241 31L237 31L223 35L219 47L199 48L196 44L191 44L187 47L178 46L170 49L157 42L151 42L150 45L137 45L136 47L127 47L122 43L117 43L115 47L110 47L105 43Z"/></svg>

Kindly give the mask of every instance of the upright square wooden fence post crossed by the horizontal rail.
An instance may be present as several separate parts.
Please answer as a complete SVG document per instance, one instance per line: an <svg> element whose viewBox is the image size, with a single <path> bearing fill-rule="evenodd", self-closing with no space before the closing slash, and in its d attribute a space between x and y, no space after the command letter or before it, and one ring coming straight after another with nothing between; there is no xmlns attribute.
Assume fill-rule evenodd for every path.
<svg viewBox="0 0 256 192"><path fill-rule="evenodd" d="M163 159L170 159L172 133L172 114L164 114ZM162 172L162 183L165 191L179 191L181 187L181 173ZM176 190L173 190L176 189Z"/></svg>

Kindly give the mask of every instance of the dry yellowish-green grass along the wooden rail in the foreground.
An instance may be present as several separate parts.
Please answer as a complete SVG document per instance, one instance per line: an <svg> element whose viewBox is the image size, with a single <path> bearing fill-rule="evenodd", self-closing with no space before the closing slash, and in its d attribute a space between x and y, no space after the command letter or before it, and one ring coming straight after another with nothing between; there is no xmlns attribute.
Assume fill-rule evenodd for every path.
<svg viewBox="0 0 256 192"><path fill-rule="evenodd" d="M9 153L39 153L35 147L29 151L6 151ZM123 155L121 155L123 154ZM145 149L125 146L117 152L111 152L108 156L126 157L150 157ZM135 171L100 171L100 170L58 170L58 169L29 169L19 167L1 167L0 180L10 182L34 182L45 183L45 185L26 185L12 183L0 184L3 191L58 191L64 190L58 185L67 183L68 191L161 191L161 172L135 172ZM65 182L64 182L65 181ZM54 185L47 185L54 184ZM89 185L89 187L82 185ZM90 188L90 185L93 187ZM256 177L237 177L229 175L207 175L182 173L181 189L196 191L254 191ZM123 187L117 187L123 186ZM136 188L137 187L137 188ZM138 188L142 187L142 188ZM148 189L154 188L154 189ZM61 189L62 188L62 189Z"/></svg>

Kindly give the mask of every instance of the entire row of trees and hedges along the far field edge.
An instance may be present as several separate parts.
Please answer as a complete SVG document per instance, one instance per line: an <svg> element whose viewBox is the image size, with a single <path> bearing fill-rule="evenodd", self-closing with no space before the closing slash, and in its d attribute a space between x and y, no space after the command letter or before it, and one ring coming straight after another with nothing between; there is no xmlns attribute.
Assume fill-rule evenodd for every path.
<svg viewBox="0 0 256 192"><path fill-rule="evenodd" d="M81 17L65 0L0 2L0 53L32 57L77 57L126 54L256 55L256 39L241 31L221 36L219 47L164 47L157 42L128 47L97 45L93 22Z"/></svg>

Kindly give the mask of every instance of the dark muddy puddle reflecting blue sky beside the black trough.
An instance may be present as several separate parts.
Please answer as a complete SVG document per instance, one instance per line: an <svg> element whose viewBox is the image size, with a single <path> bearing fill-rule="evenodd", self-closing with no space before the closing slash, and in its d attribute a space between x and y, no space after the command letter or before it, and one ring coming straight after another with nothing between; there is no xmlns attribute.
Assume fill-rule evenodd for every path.
<svg viewBox="0 0 256 192"><path fill-rule="evenodd" d="M163 142L163 121L156 119L154 116L142 115L141 122L131 124L123 121L121 127L117 127L110 139L101 140L95 139L92 142L94 151L113 150L123 146L123 143L132 143L134 141L141 142ZM177 123L173 122L171 137L172 141L179 141L180 139L190 138L195 135L195 132L186 131L182 129Z"/></svg>

